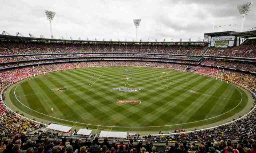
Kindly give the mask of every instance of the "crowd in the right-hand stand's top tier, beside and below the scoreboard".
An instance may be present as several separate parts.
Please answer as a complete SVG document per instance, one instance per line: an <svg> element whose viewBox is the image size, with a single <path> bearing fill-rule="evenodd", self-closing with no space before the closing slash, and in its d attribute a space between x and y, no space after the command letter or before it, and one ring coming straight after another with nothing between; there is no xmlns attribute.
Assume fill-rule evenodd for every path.
<svg viewBox="0 0 256 153"><path fill-rule="evenodd" d="M256 39L248 39L241 46L232 48L210 48L205 55L256 58Z"/></svg>

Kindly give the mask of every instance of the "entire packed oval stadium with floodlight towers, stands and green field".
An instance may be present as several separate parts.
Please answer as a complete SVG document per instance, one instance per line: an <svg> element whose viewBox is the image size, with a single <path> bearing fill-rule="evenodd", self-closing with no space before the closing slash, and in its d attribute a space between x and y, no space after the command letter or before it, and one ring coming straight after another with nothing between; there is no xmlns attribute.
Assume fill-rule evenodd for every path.
<svg viewBox="0 0 256 153"><path fill-rule="evenodd" d="M251 5L237 6L240 32L202 41L138 40L141 19L132 41L59 39L52 11L50 38L4 30L0 151L254 153L256 28L243 30Z"/></svg>

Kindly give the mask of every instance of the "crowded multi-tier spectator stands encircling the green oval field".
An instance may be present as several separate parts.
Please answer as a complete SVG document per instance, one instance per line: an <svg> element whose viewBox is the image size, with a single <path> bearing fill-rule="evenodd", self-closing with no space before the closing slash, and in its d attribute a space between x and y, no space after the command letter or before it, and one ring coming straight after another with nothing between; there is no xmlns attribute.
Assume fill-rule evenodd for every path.
<svg viewBox="0 0 256 153"><path fill-rule="evenodd" d="M133 42L57 43L48 40L38 40L36 42L32 41L32 38L23 39L9 36L0 36L0 38L2 38L0 42L1 91L9 84L40 73L84 67L150 66L212 75L213 77L223 76L221 79L236 83L256 93L255 39L247 39L238 47L213 49L208 48L205 42L172 42L170 44L139 44ZM225 68L225 73L219 71L220 67ZM146 153L148 151L154 153L157 151L152 143L166 142L177 143L164 148L166 153L172 153L174 150L183 153L186 151L223 151L226 153L233 151L231 147L237 149L239 153L248 153L249 149L251 149L251 152L255 152L255 103L251 106L252 111L248 115L226 125L191 132L178 129L174 131L177 134L165 135L160 132L156 136L133 135L126 139L114 138L113 140L123 140L125 144L122 142L115 143L115 141L109 144L107 141L112 139L104 139L100 143L99 141L102 141L102 138L98 138L94 134L90 135L90 138L86 137L73 141L71 138L64 138L67 135L56 132L42 132L40 129L45 126L43 123L27 119L26 116L23 117L23 114L18 114L18 112L12 112L4 104L4 92L1 96L3 101L0 105L0 132L2 133L1 140L3 143L1 143L0 149L5 152L19 152L27 149L27 152L31 152L32 149L38 152L43 152L43 150L63 152L80 150L80 147L80 152L85 152L86 147L88 147L88 151L93 153L99 152L99 150L113 153L115 151L130 151L133 153ZM37 136L39 138L35 141L30 139ZM41 137L45 137L44 140ZM62 138L62 141L49 140L48 137ZM232 143L229 139L238 141ZM133 141L136 143L133 144ZM187 143L187 141L190 143ZM194 141L202 142L201 144L195 144ZM212 145L211 142L213 141L215 142Z"/></svg>

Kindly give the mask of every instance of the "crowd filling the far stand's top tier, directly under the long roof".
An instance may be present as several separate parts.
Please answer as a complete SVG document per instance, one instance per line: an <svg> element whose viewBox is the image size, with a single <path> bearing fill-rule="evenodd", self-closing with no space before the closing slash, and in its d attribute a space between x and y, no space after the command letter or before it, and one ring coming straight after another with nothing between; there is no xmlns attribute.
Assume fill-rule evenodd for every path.
<svg viewBox="0 0 256 153"><path fill-rule="evenodd" d="M72 53L72 52L122 52L122 53L166 53L201 55L201 45L126 45L126 44L80 44L80 43L39 43L0 42L0 54Z"/></svg>

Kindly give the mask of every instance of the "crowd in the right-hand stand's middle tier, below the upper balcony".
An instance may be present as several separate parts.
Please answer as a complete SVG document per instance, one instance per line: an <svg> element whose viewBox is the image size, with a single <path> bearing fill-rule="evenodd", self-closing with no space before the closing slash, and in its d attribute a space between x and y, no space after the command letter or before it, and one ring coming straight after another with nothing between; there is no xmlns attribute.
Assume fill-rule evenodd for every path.
<svg viewBox="0 0 256 153"><path fill-rule="evenodd" d="M216 61L216 60L205 60L201 65L211 65L211 66L221 66L234 68L244 71L253 71L256 72L256 63L245 63L245 62L227 62L227 61Z"/></svg>

